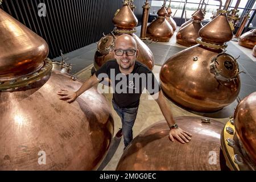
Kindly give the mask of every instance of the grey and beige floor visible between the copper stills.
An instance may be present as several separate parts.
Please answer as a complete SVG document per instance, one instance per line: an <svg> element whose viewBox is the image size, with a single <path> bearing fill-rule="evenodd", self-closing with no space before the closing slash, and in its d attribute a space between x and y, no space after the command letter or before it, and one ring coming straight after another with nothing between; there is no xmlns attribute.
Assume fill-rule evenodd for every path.
<svg viewBox="0 0 256 182"><path fill-rule="evenodd" d="M137 28L137 35L139 36L140 27ZM154 73L160 72L160 66L164 63L166 59L174 55L174 53L181 51L185 47L179 46L175 43L175 35L172 36L170 42L168 43L151 43L148 42L148 47L150 47L151 51L154 53L156 65L153 69ZM81 78L81 80L87 80L90 77L90 69L93 67L93 57L94 52L96 51L97 44L91 44L79 50L73 51L71 53L67 53L67 57L69 60L67 63L75 64L73 65L72 73L76 73L76 75ZM238 59L238 64L240 66L241 71L245 71L246 74L241 73L241 92L239 97L242 99L247 96L251 92L256 92L256 58L251 56L251 49L243 48L237 45L237 42L229 42L228 43L228 53L237 57L241 55L240 59ZM60 60L60 57L57 57L55 60ZM112 94L104 94L106 98L111 103ZM164 119L162 112L159 109L159 106L156 104L154 100L147 99L148 94L142 94L141 102L139 106L137 120L134 125L134 137L136 137L142 130L146 129L146 127L152 125L152 123L158 122ZM225 123L228 121L230 115L233 115L234 109L236 108L238 101L234 101L229 106L224 109L215 112L215 113L196 113L192 111L187 111L182 109L181 107L175 105L171 101L167 101L168 105L172 109L172 113L174 117L183 116L183 115L191 115L191 116L203 116L209 118L215 118L218 121ZM114 134L118 131L119 127L121 127L121 121L118 115L115 113L112 107L112 113L114 117ZM104 162L100 166L99 170L115 170L119 159L121 158L123 151L123 139L113 138L110 150L108 155L106 156Z"/></svg>

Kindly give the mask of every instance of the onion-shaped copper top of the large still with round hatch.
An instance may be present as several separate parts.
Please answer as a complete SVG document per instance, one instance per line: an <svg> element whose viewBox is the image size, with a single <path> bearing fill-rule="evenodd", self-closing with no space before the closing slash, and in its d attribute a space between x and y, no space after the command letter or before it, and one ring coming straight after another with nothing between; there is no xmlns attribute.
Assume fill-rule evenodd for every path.
<svg viewBox="0 0 256 182"><path fill-rule="evenodd" d="M224 44L233 38L226 14L220 14L199 31L199 36L203 42L213 44Z"/></svg>

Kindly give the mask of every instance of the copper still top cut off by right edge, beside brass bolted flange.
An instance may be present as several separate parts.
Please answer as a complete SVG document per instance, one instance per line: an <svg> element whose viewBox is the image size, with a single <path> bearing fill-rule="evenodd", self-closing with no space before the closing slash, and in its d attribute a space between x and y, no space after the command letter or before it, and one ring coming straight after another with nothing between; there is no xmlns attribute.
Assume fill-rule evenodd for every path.
<svg viewBox="0 0 256 182"><path fill-rule="evenodd" d="M243 149L256 165L256 92L243 98L236 107L234 126Z"/></svg>

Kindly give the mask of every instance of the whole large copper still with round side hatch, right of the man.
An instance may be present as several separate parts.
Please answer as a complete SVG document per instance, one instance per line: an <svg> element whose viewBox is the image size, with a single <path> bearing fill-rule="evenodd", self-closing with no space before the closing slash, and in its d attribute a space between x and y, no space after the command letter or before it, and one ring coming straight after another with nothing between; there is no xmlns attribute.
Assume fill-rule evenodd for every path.
<svg viewBox="0 0 256 182"><path fill-rule="evenodd" d="M176 53L162 65L161 87L166 97L180 106L213 112L236 100L241 85L236 59L224 53L225 42L233 37L226 14L201 28L199 36L199 44Z"/></svg>

